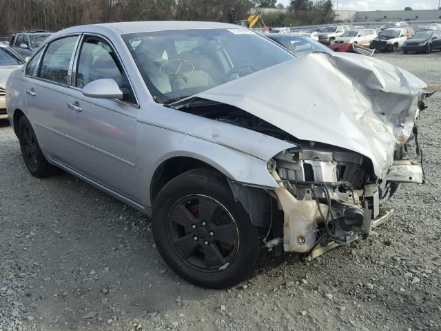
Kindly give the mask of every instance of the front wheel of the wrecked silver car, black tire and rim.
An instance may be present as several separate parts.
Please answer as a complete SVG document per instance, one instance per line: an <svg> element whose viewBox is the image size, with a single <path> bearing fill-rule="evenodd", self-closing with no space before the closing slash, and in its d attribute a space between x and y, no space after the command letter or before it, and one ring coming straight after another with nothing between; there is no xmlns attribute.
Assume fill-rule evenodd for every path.
<svg viewBox="0 0 441 331"><path fill-rule="evenodd" d="M164 186L154 201L152 232L167 265L204 288L240 283L263 257L258 228L213 170L189 170Z"/></svg>

